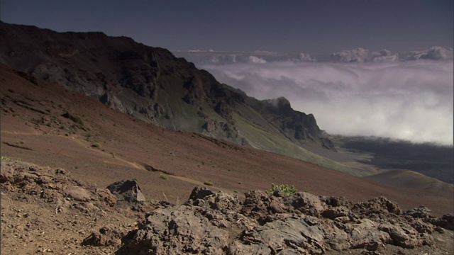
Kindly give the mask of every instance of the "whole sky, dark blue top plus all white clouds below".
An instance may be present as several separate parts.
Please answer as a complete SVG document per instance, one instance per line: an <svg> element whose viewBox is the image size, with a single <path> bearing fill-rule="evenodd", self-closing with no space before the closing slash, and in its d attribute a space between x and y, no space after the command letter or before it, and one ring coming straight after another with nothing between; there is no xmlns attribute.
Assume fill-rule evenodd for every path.
<svg viewBox="0 0 454 255"><path fill-rule="evenodd" d="M0 18L165 47L331 134L453 145L453 3L0 0Z"/></svg>

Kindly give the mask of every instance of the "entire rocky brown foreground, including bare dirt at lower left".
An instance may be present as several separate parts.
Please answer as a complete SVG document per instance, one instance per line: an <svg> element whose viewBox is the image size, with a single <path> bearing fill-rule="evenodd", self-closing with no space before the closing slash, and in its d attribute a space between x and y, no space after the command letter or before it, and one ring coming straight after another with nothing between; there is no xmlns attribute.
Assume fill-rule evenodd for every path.
<svg viewBox="0 0 454 255"><path fill-rule="evenodd" d="M136 185L130 186L132 189L122 189L118 183L114 186L116 190L112 186L96 188L74 179L65 169L2 159L1 251L7 254L453 252L454 215L433 217L425 207L402 211L399 205L384 197L352 203L345 198L306 192L249 191L242 200L232 193L213 193L198 187L187 202L172 205L163 201L138 201L144 198L139 196L140 188ZM137 199L119 203L126 202L126 197Z"/></svg>

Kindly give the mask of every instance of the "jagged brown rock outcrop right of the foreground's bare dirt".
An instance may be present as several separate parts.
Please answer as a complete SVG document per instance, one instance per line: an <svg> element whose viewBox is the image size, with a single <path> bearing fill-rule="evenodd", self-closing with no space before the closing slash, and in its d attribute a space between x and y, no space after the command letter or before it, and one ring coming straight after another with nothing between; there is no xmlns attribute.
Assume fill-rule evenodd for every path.
<svg viewBox="0 0 454 255"><path fill-rule="evenodd" d="M194 188L180 206L149 212L130 233L123 254L326 254L433 246L430 215L402 214L387 198L353 204L310 193L270 196ZM420 215L416 215L420 216ZM434 247L435 248L435 247Z"/></svg>

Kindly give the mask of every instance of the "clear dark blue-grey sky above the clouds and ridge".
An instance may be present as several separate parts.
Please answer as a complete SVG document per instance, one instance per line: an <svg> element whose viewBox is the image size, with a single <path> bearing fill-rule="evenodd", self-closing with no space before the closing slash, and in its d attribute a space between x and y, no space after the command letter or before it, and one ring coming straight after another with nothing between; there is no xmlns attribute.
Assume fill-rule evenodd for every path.
<svg viewBox="0 0 454 255"><path fill-rule="evenodd" d="M169 50L307 52L453 47L453 0L0 0L0 18L126 35Z"/></svg>

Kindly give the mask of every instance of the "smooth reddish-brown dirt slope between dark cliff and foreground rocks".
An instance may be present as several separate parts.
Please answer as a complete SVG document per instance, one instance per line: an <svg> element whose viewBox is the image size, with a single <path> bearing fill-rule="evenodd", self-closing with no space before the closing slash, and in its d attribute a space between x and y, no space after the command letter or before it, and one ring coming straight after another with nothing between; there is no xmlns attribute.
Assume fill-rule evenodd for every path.
<svg viewBox="0 0 454 255"><path fill-rule="evenodd" d="M426 205L434 215L454 212L451 192L385 186L298 159L164 130L8 67L1 66L0 77L1 155L69 169L99 187L137 179L147 198L180 203L205 181L213 182L214 190L238 194L288 183L323 196L353 201L386 196L403 209ZM101 147L92 147L93 142ZM163 172L169 179L160 178Z"/></svg>

